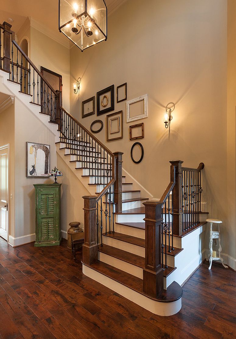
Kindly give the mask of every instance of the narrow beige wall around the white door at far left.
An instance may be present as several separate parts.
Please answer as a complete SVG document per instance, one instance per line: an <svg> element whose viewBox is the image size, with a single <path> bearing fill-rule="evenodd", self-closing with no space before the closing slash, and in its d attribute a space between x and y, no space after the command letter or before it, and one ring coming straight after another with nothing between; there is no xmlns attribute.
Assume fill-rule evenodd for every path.
<svg viewBox="0 0 236 339"><path fill-rule="evenodd" d="M9 166L9 197L12 194L13 199L9 199L8 211L9 211L9 234L14 237L15 232L15 142L14 142L14 104L0 113L0 146L9 144L10 157L8 159Z"/></svg>

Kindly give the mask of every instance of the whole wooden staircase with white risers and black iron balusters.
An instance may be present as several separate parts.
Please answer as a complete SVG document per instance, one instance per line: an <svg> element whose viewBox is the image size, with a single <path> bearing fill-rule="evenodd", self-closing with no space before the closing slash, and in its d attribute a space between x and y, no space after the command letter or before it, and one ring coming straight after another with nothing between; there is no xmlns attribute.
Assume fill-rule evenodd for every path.
<svg viewBox="0 0 236 339"><path fill-rule="evenodd" d="M1 54L3 84L54 133L58 154L91 194L83 197L83 273L152 313L177 313L181 285L203 260L204 164L187 168L170 161L163 196L151 201L142 196L123 173L123 153L112 153L61 106L61 93L23 53L9 26L0 25L11 46Z"/></svg>

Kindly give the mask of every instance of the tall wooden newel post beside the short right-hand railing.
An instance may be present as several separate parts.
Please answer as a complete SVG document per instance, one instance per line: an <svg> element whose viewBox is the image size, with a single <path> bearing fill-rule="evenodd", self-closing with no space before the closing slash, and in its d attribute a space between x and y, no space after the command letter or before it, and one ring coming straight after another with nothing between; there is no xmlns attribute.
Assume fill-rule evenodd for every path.
<svg viewBox="0 0 236 339"><path fill-rule="evenodd" d="M182 163L181 160L171 160L171 165L174 165L175 170L175 186L172 191L173 199L173 220L172 232L174 235L182 234Z"/></svg>

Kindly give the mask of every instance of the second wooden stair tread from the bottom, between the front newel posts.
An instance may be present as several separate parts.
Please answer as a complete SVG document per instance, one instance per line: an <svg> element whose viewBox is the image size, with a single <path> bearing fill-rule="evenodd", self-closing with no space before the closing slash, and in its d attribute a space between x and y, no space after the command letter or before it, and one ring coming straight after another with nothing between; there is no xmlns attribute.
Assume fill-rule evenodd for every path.
<svg viewBox="0 0 236 339"><path fill-rule="evenodd" d="M120 248L112 247L106 244L98 246L98 251L107 254L113 258L128 262L129 264L145 268L145 258L127 251L120 250Z"/></svg>

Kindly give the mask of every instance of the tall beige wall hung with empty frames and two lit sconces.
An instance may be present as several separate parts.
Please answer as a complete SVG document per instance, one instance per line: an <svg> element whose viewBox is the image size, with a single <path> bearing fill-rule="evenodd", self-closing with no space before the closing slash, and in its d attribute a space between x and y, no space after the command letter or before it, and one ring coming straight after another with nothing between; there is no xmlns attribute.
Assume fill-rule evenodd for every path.
<svg viewBox="0 0 236 339"><path fill-rule="evenodd" d="M125 101L115 103L115 111L123 110L124 138L107 143L105 127L96 137L124 152L124 168L157 198L169 182L169 160L189 167L204 162L203 201L210 217L223 220L223 252L235 258L235 217L226 207L227 156L235 172L235 124L227 126L227 1L129 0L109 16L107 42L83 53L71 49L70 71L71 85L82 78L79 100L70 92L70 112L87 128L97 117L81 119L81 101L97 91L127 82L128 100L148 93L147 119L126 123ZM170 101L176 108L168 135L163 116ZM138 122L144 122L145 137L137 165L130 158L129 126ZM235 190L231 194L235 200Z"/></svg>

